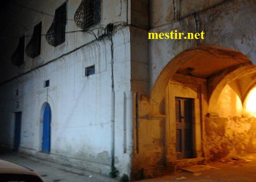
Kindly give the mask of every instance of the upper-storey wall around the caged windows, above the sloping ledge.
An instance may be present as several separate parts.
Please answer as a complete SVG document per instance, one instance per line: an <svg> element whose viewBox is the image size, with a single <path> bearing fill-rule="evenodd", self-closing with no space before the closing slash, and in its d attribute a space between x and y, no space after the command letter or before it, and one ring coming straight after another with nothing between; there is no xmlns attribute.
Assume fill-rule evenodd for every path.
<svg viewBox="0 0 256 182"><path fill-rule="evenodd" d="M98 31L104 30L109 23L117 22L117 24L124 24L130 21L127 13L130 11L130 8L127 1L129 0L102 0L100 22L90 27L90 29L94 30L94 33L97 35ZM8 3L0 12L1 82L43 65L95 39L88 32L80 32L81 28L76 26L74 21L74 14L81 0L14 0L13 2ZM51 26L55 10L64 2L67 2L66 32L70 33L66 33L66 41L64 43L53 47L46 41L45 34ZM34 26L41 21L41 54L35 59L25 55L24 65L20 67L12 65L10 59L17 48L19 37L25 34L26 47L33 34Z"/></svg>

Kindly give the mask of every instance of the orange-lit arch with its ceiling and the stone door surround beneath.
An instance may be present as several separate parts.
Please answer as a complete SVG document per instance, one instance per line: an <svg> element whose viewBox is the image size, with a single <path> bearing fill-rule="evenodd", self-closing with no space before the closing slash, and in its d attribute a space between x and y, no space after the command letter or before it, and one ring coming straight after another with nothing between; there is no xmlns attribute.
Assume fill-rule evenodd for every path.
<svg viewBox="0 0 256 182"><path fill-rule="evenodd" d="M238 87L236 81L241 82L242 79L249 79L250 76L247 78L246 75L254 73L256 73L256 69L244 54L215 45L204 45L183 51L164 67L151 91L150 115L165 115L165 155L167 164L177 160L175 146L177 146L178 140L177 134L175 134L175 117L172 117L175 116L174 98L184 96L195 99L195 105L197 105L195 113L197 114L195 114L194 134L192 136L194 138L195 146L193 150L195 150L195 154L192 156L194 158L207 156L209 150L205 150L203 144L207 140L204 137L205 119L207 119L208 111L211 110L211 107L217 105L219 95L225 85L235 81L231 86ZM172 81L171 86L170 81ZM175 84L190 88L191 91L188 91L188 89L182 91L182 87L177 90ZM168 91L166 91L166 88L168 88ZM234 89L239 92L239 88ZM190 96L190 93L193 93L192 90L198 96ZM183 95L182 92L184 92ZM241 98L244 98L245 93L246 91L241 91L238 94ZM164 112L163 107L166 108ZM211 114L211 116L213 115ZM229 121L230 123L233 122L232 119Z"/></svg>

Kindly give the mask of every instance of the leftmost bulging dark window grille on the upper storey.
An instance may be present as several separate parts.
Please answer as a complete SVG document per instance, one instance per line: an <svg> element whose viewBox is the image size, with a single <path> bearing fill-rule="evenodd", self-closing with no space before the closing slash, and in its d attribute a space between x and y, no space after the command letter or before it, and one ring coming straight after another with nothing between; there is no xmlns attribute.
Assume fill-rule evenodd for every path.
<svg viewBox="0 0 256 182"><path fill-rule="evenodd" d="M13 53L11 61L15 66L20 66L24 63L24 49L25 49L25 36L20 37L18 41L18 47Z"/></svg>

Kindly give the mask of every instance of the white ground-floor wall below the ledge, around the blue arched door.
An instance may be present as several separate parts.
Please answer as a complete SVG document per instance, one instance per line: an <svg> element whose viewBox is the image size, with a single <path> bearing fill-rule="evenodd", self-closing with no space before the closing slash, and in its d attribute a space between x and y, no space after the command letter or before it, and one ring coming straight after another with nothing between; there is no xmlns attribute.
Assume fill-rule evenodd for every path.
<svg viewBox="0 0 256 182"><path fill-rule="evenodd" d="M115 158L120 171L129 170L131 153L131 103L124 107L124 93L130 93L129 28L113 37L115 81ZM124 56L125 54L125 56ZM95 74L84 76L85 67L95 65ZM123 74L126 73L126 74ZM44 81L50 86L44 87ZM16 89L19 95L15 95ZM43 104L51 107L51 154L106 165L98 172L108 173L111 157L111 41L92 42L1 87L1 143L12 147L14 112L22 111L20 148L41 151ZM128 98L129 99L129 98ZM16 108L16 102L19 107ZM42 109L43 108L43 109ZM124 117L127 137L124 138ZM130 118L131 119L131 118ZM11 132L8 132L11 131ZM127 151L124 153L124 140ZM22 149L26 148L26 149ZM54 157L53 157L54 158ZM74 164L75 165L75 164ZM90 170L90 168L88 169ZM104 171L105 170L105 171Z"/></svg>

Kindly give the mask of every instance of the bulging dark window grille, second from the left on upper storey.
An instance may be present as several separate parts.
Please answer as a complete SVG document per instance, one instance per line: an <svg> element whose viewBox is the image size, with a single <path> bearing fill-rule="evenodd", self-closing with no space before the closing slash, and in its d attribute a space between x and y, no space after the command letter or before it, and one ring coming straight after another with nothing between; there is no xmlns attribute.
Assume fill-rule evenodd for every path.
<svg viewBox="0 0 256 182"><path fill-rule="evenodd" d="M42 22L34 26L33 35L26 46L25 52L28 57L35 58L41 52L41 30Z"/></svg>

